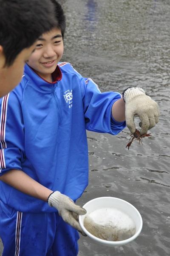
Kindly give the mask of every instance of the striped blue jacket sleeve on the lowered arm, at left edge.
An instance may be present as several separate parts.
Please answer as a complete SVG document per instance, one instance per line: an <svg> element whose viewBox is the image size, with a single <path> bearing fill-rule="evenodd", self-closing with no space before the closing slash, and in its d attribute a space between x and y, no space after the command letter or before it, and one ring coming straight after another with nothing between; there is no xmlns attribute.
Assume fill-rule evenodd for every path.
<svg viewBox="0 0 170 256"><path fill-rule="evenodd" d="M0 99L0 175L10 169L21 170L24 155L21 100L21 87Z"/></svg>

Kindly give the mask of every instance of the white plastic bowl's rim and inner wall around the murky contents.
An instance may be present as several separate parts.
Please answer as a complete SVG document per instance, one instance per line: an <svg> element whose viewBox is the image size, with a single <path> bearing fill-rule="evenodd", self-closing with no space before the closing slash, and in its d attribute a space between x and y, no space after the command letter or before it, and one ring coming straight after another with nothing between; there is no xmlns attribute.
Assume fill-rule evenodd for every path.
<svg viewBox="0 0 170 256"><path fill-rule="evenodd" d="M111 208L111 207L126 213L134 221L134 224L136 226L136 232L133 236L122 241L107 241L92 235L91 233L88 232L88 230L86 230L83 223L84 223L85 216L87 214L90 214L91 212L94 212L97 209ZM100 244L105 244L109 246L119 246L119 245L127 244L133 241L134 239L136 239L136 237L139 236L142 230L142 217L139 211L132 204L120 198L114 198L114 197L94 198L93 200L88 201L83 206L83 208L87 210L87 214L79 215L79 224L87 236L89 236L91 239L94 239L96 242L99 242Z"/></svg>

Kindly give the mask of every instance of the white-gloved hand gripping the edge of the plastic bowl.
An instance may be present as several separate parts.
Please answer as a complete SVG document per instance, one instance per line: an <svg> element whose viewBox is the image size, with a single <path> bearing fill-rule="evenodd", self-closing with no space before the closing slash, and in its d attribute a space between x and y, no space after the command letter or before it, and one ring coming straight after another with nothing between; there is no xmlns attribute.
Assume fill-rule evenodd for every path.
<svg viewBox="0 0 170 256"><path fill-rule="evenodd" d="M56 208L65 222L76 228L83 236L86 236L78 222L79 215L86 214L84 208L74 204L71 198L61 194L59 191L55 191L49 195L48 205Z"/></svg>

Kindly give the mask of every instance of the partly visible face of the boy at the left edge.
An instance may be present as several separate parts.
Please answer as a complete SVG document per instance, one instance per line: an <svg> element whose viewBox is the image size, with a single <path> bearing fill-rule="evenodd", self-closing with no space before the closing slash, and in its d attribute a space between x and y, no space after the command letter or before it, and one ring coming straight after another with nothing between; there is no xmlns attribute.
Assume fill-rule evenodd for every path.
<svg viewBox="0 0 170 256"><path fill-rule="evenodd" d="M35 45L34 43L31 47L23 49L15 58L13 64L6 67L4 67L6 58L3 55L3 47L0 46L0 97L8 94L19 84L23 76L24 65L35 49Z"/></svg>

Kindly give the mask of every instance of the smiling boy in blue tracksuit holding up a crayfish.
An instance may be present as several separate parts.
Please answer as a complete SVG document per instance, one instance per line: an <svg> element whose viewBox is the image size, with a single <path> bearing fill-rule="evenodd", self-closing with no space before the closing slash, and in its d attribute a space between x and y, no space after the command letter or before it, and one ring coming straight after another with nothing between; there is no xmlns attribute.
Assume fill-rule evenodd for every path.
<svg viewBox="0 0 170 256"><path fill-rule="evenodd" d="M74 201L88 185L86 129L116 135L125 128L122 95L101 93L71 64L59 62L65 16L55 5L58 26L40 36L21 83L1 103L0 237L6 256L78 254L77 215L86 212ZM124 98L130 129L138 108L142 132L158 121L156 102L141 88L127 89ZM148 115L156 120L147 126Z"/></svg>

